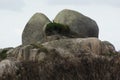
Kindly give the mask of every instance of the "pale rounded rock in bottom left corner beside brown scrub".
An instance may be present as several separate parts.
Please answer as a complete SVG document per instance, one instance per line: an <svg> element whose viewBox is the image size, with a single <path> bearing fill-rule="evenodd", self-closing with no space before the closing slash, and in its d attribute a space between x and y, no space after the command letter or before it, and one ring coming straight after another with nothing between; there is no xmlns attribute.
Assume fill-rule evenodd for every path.
<svg viewBox="0 0 120 80"><path fill-rule="evenodd" d="M0 80L12 80L10 77L15 77L17 80L16 72L19 70L17 61L6 59L0 62Z"/></svg>

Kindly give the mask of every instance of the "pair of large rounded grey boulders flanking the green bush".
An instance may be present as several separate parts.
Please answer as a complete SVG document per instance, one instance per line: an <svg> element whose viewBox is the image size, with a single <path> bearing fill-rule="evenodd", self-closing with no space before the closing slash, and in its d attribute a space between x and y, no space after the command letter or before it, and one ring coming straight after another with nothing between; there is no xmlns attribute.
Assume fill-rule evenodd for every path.
<svg viewBox="0 0 120 80"><path fill-rule="evenodd" d="M45 29L49 23L51 23L51 21L44 14L34 14L28 21L23 31L23 45L36 43L38 41L44 42L43 39L45 36L47 36ZM98 37L99 29L96 22L89 17L86 17L83 14L73 10L62 10L55 17L53 23L67 25L72 32L76 33L74 35L76 38ZM54 35L56 35L56 33Z"/></svg>

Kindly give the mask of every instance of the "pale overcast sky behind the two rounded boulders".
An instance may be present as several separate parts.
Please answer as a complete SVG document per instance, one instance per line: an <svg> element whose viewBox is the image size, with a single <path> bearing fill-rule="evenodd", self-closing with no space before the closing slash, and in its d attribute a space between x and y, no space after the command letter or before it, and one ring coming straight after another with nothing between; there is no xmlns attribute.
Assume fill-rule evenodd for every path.
<svg viewBox="0 0 120 80"><path fill-rule="evenodd" d="M34 13L44 13L53 20L62 9L94 19L99 39L120 50L120 0L0 0L0 48L21 44L22 31Z"/></svg>

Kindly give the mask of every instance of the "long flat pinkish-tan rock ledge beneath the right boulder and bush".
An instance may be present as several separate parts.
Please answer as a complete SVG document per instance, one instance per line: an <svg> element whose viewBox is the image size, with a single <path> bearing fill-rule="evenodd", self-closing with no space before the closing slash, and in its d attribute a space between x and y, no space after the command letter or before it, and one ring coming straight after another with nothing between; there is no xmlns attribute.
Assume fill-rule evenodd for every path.
<svg viewBox="0 0 120 80"><path fill-rule="evenodd" d="M48 49L56 49L61 54L91 53L101 54L101 41L97 38L60 39L42 44Z"/></svg>

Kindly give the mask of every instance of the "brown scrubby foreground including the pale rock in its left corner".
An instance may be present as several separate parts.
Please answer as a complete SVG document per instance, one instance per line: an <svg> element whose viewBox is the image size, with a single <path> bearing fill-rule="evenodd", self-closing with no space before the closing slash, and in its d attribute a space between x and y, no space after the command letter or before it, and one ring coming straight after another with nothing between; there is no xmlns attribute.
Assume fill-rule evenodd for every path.
<svg viewBox="0 0 120 80"><path fill-rule="evenodd" d="M120 55L116 56L89 53L63 56L51 50L40 61L3 60L0 80L119 80Z"/></svg>

